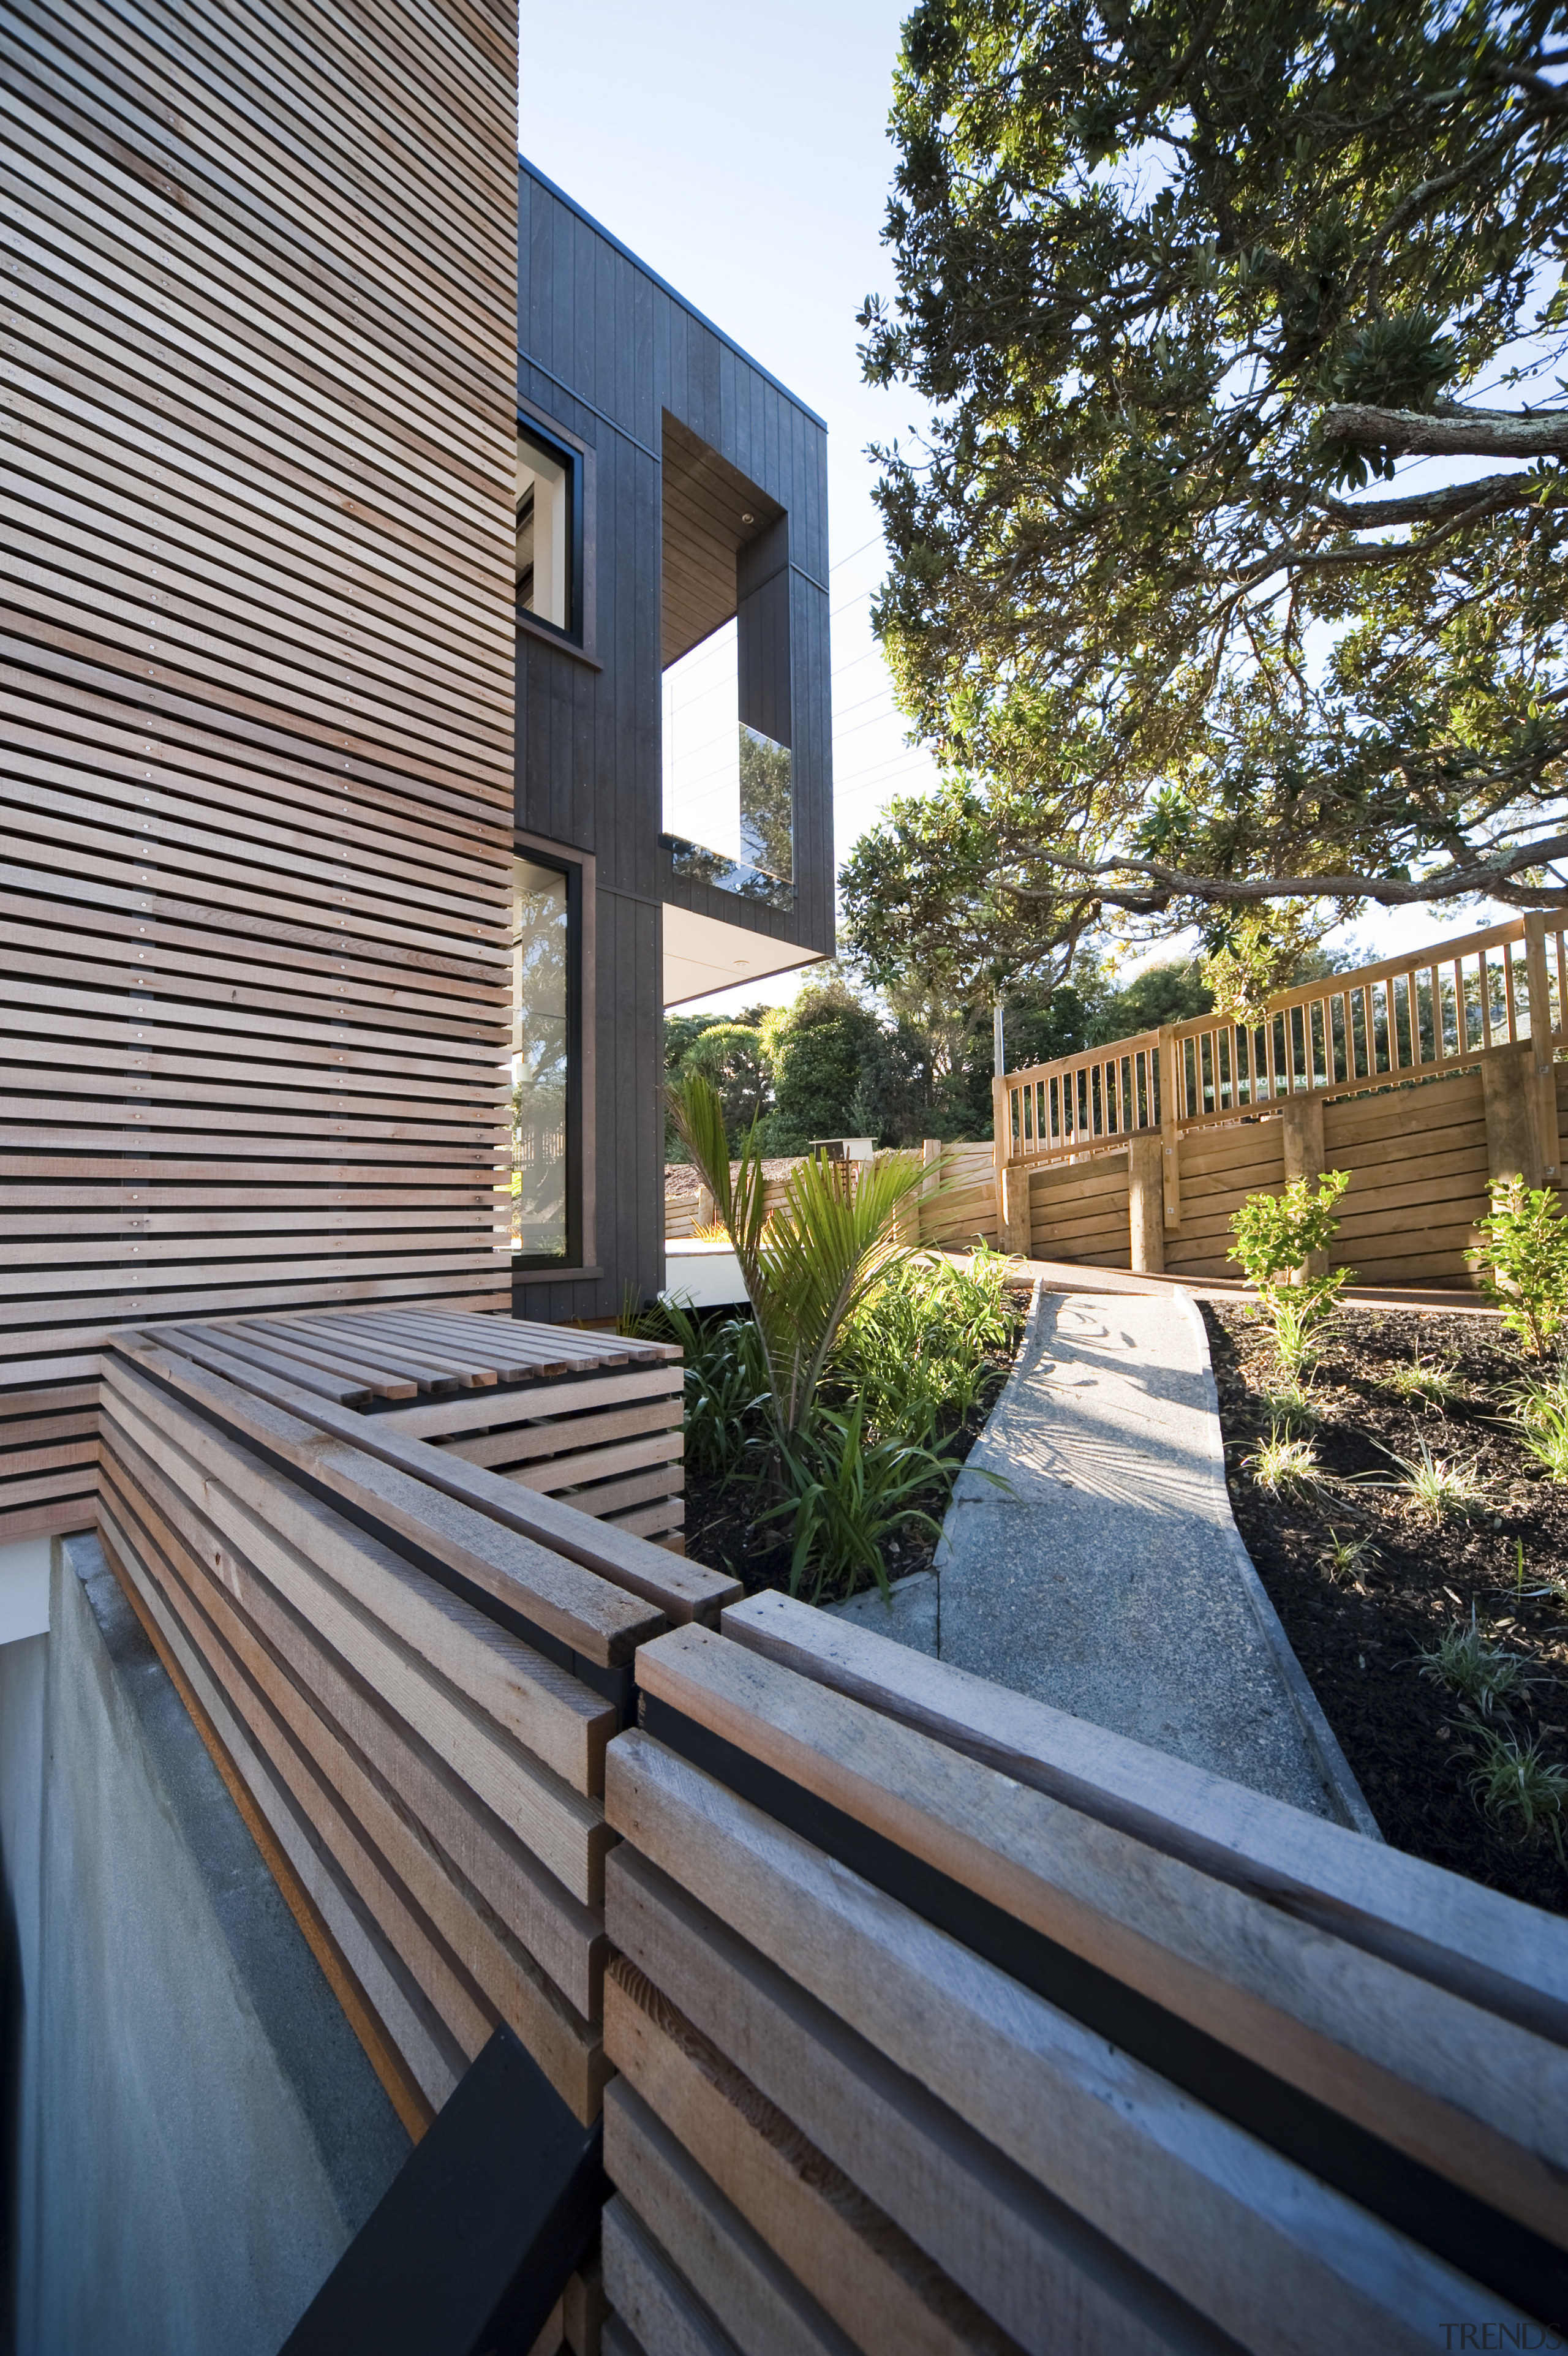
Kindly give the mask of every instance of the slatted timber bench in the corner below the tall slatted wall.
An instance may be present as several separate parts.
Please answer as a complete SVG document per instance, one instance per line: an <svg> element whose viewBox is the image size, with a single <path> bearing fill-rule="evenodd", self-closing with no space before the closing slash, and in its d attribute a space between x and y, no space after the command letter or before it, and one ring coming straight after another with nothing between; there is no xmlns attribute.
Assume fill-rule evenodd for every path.
<svg viewBox="0 0 1568 2356"><path fill-rule="evenodd" d="M158 1331L219 1371L288 1378L684 1553L681 1352L670 1343L417 1305Z"/></svg>

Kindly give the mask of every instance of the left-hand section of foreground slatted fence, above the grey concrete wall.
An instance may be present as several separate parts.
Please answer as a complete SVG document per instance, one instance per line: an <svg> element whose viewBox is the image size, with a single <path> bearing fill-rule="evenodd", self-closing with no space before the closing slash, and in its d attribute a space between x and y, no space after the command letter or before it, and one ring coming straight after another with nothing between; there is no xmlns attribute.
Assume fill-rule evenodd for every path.
<svg viewBox="0 0 1568 2356"><path fill-rule="evenodd" d="M410 2130L498 2021L594 2120L606 1741L738 1583L222 1324L116 1336L101 1418L108 1562Z"/></svg>

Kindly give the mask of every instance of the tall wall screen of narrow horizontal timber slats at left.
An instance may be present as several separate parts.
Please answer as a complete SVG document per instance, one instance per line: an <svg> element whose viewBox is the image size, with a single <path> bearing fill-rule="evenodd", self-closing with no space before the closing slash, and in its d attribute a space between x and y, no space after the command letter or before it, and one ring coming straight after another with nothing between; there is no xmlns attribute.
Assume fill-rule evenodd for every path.
<svg viewBox="0 0 1568 2356"><path fill-rule="evenodd" d="M14 0L0 1541L106 1329L507 1308L509 0Z"/></svg>

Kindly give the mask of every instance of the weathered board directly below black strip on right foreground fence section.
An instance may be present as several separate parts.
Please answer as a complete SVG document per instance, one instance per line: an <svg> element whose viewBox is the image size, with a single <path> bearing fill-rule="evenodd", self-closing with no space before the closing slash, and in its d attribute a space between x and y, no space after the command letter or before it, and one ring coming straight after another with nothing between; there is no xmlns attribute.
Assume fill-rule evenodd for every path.
<svg viewBox="0 0 1568 2356"><path fill-rule="evenodd" d="M1474 2302L1438 2259L660 1743L615 1739L606 1802L644 1857L750 1946L788 1955L889 2062L1243 2344L1306 2356L1344 2318L1415 2351L1455 2299ZM1485 2311L1511 2318L1497 2299Z"/></svg>

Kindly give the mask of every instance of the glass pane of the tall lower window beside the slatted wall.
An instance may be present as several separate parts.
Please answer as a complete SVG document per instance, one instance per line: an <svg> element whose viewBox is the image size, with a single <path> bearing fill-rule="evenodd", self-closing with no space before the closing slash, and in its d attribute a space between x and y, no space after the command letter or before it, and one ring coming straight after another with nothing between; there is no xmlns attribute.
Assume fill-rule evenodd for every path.
<svg viewBox="0 0 1568 2356"><path fill-rule="evenodd" d="M512 862L512 1249L566 1258L566 876Z"/></svg>

